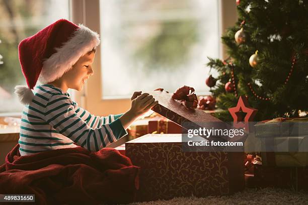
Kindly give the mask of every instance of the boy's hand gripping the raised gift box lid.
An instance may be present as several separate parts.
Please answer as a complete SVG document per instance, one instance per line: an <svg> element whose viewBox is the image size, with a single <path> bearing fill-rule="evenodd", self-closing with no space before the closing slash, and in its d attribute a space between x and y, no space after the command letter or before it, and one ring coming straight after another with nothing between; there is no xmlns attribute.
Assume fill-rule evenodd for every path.
<svg viewBox="0 0 308 205"><path fill-rule="evenodd" d="M141 92L135 92L135 93L139 94ZM135 115L136 117L139 117L144 113L146 113L147 111L149 111L152 107L156 106L157 104L158 101L155 101L155 98L153 98L152 95L149 95L148 93L143 93L140 94L138 97L135 97L131 101L131 108L129 111L131 114Z"/></svg>

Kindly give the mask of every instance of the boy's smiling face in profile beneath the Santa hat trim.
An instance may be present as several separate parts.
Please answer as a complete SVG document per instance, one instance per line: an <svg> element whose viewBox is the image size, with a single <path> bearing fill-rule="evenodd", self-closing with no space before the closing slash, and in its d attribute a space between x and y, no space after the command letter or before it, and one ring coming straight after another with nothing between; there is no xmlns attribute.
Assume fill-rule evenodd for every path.
<svg viewBox="0 0 308 205"><path fill-rule="evenodd" d="M66 86L75 90L82 90L85 81L94 74L92 63L94 61L95 52L82 56L64 75L62 79L65 81Z"/></svg>

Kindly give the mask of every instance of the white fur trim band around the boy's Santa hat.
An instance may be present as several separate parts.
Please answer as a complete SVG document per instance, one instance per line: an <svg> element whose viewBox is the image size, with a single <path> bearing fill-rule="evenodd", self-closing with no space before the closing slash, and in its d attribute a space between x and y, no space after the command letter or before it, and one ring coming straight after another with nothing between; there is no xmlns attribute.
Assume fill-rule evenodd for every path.
<svg viewBox="0 0 308 205"><path fill-rule="evenodd" d="M100 44L99 34L84 25L79 25L79 27L80 29L76 30L62 47L56 48L56 53L43 62L38 78L41 83L52 82L60 78L80 57Z"/></svg>

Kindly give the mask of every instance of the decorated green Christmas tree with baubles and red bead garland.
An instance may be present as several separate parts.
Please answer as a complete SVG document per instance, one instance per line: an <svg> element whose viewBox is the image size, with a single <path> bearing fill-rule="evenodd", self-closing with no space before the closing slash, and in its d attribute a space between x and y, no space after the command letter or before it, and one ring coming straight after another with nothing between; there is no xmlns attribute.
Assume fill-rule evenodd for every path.
<svg viewBox="0 0 308 205"><path fill-rule="evenodd" d="M209 58L219 76L207 79L222 112L246 96L255 121L308 111L308 1L237 0L239 19L222 36L228 58ZM217 83L215 83L217 80Z"/></svg>

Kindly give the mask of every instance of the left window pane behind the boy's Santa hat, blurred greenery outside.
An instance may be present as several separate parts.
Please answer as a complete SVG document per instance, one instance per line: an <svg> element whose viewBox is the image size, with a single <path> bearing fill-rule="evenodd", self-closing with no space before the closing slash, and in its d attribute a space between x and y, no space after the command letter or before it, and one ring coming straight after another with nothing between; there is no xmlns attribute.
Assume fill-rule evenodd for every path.
<svg viewBox="0 0 308 205"><path fill-rule="evenodd" d="M0 0L0 114L20 113L15 85L26 85L18 60L18 44L39 30L69 19L69 0Z"/></svg>

